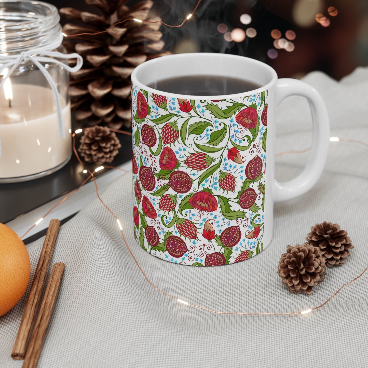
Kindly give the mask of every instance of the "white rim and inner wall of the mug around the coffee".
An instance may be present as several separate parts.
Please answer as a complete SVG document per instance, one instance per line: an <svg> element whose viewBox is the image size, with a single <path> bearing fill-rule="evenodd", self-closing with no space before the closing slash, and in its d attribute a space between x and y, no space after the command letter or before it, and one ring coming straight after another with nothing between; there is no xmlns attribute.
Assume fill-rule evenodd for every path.
<svg viewBox="0 0 368 368"><path fill-rule="evenodd" d="M134 69L131 78L134 83L139 82L147 86L152 82L173 77L187 75L223 75L240 78L259 84L260 87L252 91L269 89L276 82L277 74L267 64L244 56L216 54L216 53L186 53L158 57L146 61ZM152 91L153 88L147 87ZM242 93L228 96L243 95ZM180 90L175 93L180 97ZM185 97L187 95L183 95ZM224 97L224 95L221 95ZM193 96L206 99L206 96ZM216 96L208 96L215 99Z"/></svg>

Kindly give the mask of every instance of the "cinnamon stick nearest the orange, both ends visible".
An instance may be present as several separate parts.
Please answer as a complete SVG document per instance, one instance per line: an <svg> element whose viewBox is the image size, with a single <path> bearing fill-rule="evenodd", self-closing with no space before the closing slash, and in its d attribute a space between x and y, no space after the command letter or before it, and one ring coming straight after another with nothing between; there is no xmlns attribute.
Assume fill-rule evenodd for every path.
<svg viewBox="0 0 368 368"><path fill-rule="evenodd" d="M21 324L19 326L13 351L11 353L11 357L15 360L24 359L33 319L35 317L38 302L40 300L47 269L49 268L59 226L60 220L53 219L50 221L49 228L47 229L46 238L43 243L40 258L38 260L35 276L33 276L31 290L29 290Z"/></svg>

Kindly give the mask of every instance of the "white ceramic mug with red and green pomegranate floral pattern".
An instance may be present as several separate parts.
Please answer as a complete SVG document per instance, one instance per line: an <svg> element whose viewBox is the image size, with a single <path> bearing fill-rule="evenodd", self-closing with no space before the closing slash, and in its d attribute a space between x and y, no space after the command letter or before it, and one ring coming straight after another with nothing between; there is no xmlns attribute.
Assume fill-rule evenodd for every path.
<svg viewBox="0 0 368 368"><path fill-rule="evenodd" d="M224 75L261 87L224 96L166 93L147 85L187 75ZM271 241L273 204L310 190L321 176L329 119L321 96L277 79L246 57L187 53L139 65L132 80L134 234L156 257L196 266L237 263ZM308 99L313 141L305 169L275 180L276 107ZM267 170L266 170L267 167Z"/></svg>

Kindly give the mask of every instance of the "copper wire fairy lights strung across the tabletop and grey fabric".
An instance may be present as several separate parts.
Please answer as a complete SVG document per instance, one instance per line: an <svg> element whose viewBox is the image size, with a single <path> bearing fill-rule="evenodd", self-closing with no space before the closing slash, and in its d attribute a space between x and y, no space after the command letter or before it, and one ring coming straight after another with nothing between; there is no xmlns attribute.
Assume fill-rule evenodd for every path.
<svg viewBox="0 0 368 368"><path fill-rule="evenodd" d="M84 128L82 129L82 131L85 131L85 130L88 130L89 128ZM110 128L110 130L114 131L114 132L117 132L117 133L122 133L122 134L127 134L127 135L132 135L130 132L126 132L126 131L121 131L121 130L117 130L117 129L113 129L113 128ZM79 131L79 130L78 130ZM77 152L77 149L75 148L75 135L78 134L76 132L74 132L72 134L72 139L73 139L73 151L75 153L75 156L77 157L77 160L78 162L83 166L85 167L84 163L82 162L82 160L79 158L79 155L78 155L78 152ZM332 138L337 138L337 137L332 137ZM337 140L333 140L333 141L337 141ZM353 143L358 143L358 144L362 144L364 146L367 146L368 147L368 144L364 143L364 142L361 142L361 141L357 141L355 139L342 139L342 138L339 138L338 141L342 141L342 142L353 142ZM276 156L280 156L280 155L283 155L283 154L286 154L286 153L302 153L302 152L307 152L309 151L310 148L307 148L303 151L287 151L287 152L282 152L282 153L279 153L277 154ZM104 168L109 168L109 169L118 169L118 170L122 170L122 171L125 171L125 172L128 172L127 170L125 169L121 169L120 167L116 167L116 166L104 166ZM124 231L123 231L123 227L121 226L121 223L120 223L120 220L118 219L118 217L114 214L114 212L112 212L112 210L105 204L105 202L103 202L103 200L101 199L99 193L98 193L98 187L97 187L97 183L96 183L96 179L95 179L95 176L94 176L94 172L96 172L96 169L94 172L92 172L91 170L83 170L83 171L87 171L89 173L89 176L82 182L81 185L79 185L79 187L73 191L71 191L70 193L68 193L66 195L66 197L64 197L59 203L57 203L56 205L54 205L43 217L46 217L54 208L56 208L57 206L59 206L60 204L62 204L72 193L75 193L77 192L90 178L92 178L93 180L93 183L95 184L95 188L96 188L96 195L99 199L99 201L102 203L102 205L113 215L113 217L115 217L117 223L118 223L118 227L120 229L120 232L121 232L121 236L123 237L123 240L124 240L124 243L125 243L125 246L127 247L128 251L130 252L130 255L132 256L132 258L134 259L134 262L135 264L137 265L138 269L141 271L142 275L144 276L144 278L146 279L146 281L151 285L153 286L155 289L157 289L158 291L160 291L160 293L184 304L184 305L188 305L190 307L193 307L193 308L198 308L198 309L202 309L204 311L208 311L208 312L211 312L211 313L216 313L216 314L237 314L237 315L275 315L275 316L282 316L282 315L304 315L304 314L307 314L309 312L312 312L314 311L315 309L319 309L321 307L323 307L324 305L326 305L333 297L335 297L345 286L347 285L350 285L351 283L353 283L355 280L359 279L362 275L364 275L364 273L367 271L368 269L368 266L363 270L363 272L358 275L357 277L355 277L355 279L351 280L350 282L346 283L346 284L343 284L332 296L330 296L325 302L323 302L322 304L318 305L317 307L313 307L313 308L309 308L309 309L306 309L304 311L301 311L301 312L285 312L285 313L273 313L273 312L231 312L231 311L216 311L214 309L209 309L209 308L205 308L205 307L201 307L200 305L196 305L196 304L191 304L187 301L184 301L184 300L181 300L169 293L166 293L166 291L163 291L162 289L160 289L158 286L156 286L153 282L151 282L148 277L146 276L145 272L143 271L143 269L141 268L141 266L139 265L137 259L135 258L133 252L131 251L127 241L125 240L125 237L124 237ZM41 219L40 219L41 220ZM39 221L40 221L39 220ZM35 227L35 225L33 225L29 230L33 229L33 227ZM22 236L21 238L23 238L27 233L28 231L27 230Z"/></svg>

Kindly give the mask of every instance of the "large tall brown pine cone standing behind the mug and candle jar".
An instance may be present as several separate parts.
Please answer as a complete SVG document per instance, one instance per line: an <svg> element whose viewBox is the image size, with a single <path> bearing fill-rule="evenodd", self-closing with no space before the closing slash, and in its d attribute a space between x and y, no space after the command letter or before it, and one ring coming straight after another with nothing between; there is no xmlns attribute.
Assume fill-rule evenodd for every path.
<svg viewBox="0 0 368 368"><path fill-rule="evenodd" d="M73 36L78 33L105 31L116 22L127 18L146 20L153 1L140 1L131 8L126 0L85 0L99 9L100 15L74 8L61 8L65 18L78 21L66 24L63 32L68 35L64 46L68 52L83 57L83 67L71 73L71 106L77 121L93 126L103 123L120 129L131 126L130 74L145 60L168 52L159 53L164 42L159 31L160 23L126 21L99 35ZM152 16L147 20L160 21Z"/></svg>

